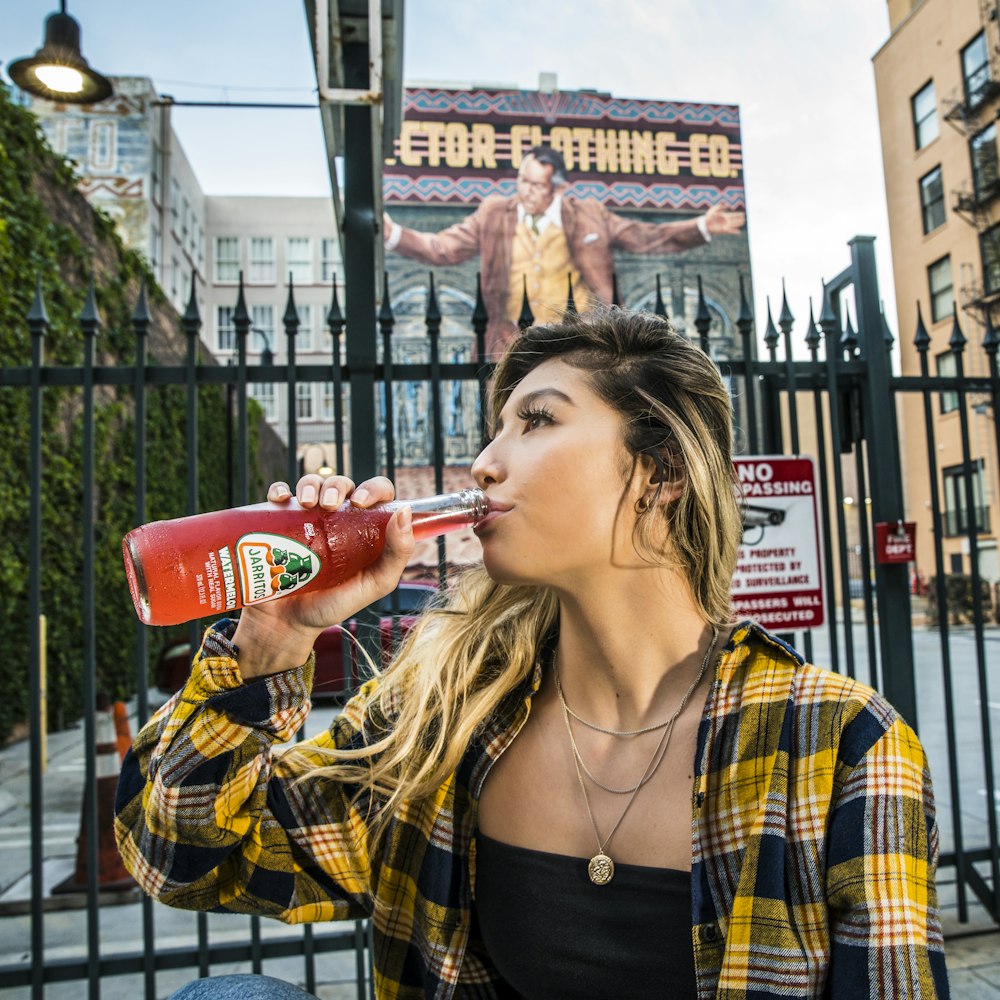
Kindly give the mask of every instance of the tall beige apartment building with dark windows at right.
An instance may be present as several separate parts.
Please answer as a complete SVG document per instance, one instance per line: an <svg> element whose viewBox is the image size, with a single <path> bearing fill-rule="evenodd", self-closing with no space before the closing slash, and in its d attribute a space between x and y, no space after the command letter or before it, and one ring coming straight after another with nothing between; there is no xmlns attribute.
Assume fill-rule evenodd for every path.
<svg viewBox="0 0 1000 1000"><path fill-rule="evenodd" d="M918 308L931 338L929 371L955 374L949 346L957 306L969 375L987 373L981 344L1000 310L1000 22L994 0L888 0L890 36L875 54L892 243L901 373L920 374ZM992 313L994 322L1000 311ZM968 400L979 568L1000 579L996 438L989 399ZM917 522L917 569L934 573L930 464L923 402L902 404L907 515ZM970 572L965 462L956 394L932 401L944 572Z"/></svg>

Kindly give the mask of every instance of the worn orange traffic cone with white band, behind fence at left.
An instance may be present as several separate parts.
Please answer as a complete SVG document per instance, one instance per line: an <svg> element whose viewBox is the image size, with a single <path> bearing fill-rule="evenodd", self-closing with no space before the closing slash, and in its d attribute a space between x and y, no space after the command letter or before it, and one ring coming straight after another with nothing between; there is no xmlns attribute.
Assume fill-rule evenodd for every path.
<svg viewBox="0 0 1000 1000"><path fill-rule="evenodd" d="M101 702L103 701L103 706ZM124 705L122 706L124 708ZM97 789L97 888L101 891L122 891L135 887L135 881L125 870L118 844L115 842L115 791L121 759L118 756L118 735L115 732L115 714L107 699L99 699L95 717ZM126 721L126 728L128 723ZM129 741L131 742L131 741ZM76 870L52 891L86 892L87 890L87 821L85 812L80 816L80 836L76 841Z"/></svg>

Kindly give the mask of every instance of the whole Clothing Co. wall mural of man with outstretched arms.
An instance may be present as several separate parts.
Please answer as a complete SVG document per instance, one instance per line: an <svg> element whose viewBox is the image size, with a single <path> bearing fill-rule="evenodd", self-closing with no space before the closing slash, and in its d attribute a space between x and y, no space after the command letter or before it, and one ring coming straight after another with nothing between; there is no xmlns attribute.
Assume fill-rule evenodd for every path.
<svg viewBox="0 0 1000 1000"><path fill-rule="evenodd" d="M496 356L523 299L536 321L618 300L652 309L657 279L684 330L704 279L711 343L731 355L740 274L749 279L739 109L590 92L410 88L384 174L393 358L426 363L428 268L437 274L441 358L475 358L481 275ZM750 285L748 283L748 290ZM432 460L425 385L393 402L397 463ZM444 459L479 448L472 383L442 387Z"/></svg>

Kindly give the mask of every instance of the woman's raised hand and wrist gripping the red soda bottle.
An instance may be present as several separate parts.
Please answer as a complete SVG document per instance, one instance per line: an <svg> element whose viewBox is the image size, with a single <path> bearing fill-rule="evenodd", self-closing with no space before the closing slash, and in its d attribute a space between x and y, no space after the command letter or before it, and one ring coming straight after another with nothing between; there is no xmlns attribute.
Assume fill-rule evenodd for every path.
<svg viewBox="0 0 1000 1000"><path fill-rule="evenodd" d="M371 507L394 497L393 485L384 476L365 480L357 488L346 476L308 475L295 484L295 498L306 510L336 510L345 500ZM287 503L291 498L286 483L272 483L267 491L272 503ZM410 509L404 507L389 520L379 558L349 580L244 608L233 636L240 673L246 679L304 663L325 628L346 621L396 588L412 553Z"/></svg>

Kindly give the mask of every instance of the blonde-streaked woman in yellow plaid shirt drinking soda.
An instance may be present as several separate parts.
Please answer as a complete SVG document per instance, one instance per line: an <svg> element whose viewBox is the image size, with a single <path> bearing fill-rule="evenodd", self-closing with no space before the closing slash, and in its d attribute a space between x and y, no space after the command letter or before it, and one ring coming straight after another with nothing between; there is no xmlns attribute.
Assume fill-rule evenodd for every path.
<svg viewBox="0 0 1000 1000"><path fill-rule="evenodd" d="M207 633L123 771L140 884L370 913L380 997L946 995L916 737L730 623L742 523L712 362L653 316L569 316L512 343L492 410L484 568L328 733L272 755L316 636L399 580L405 510L370 570ZM296 486L304 507L392 495Z"/></svg>

